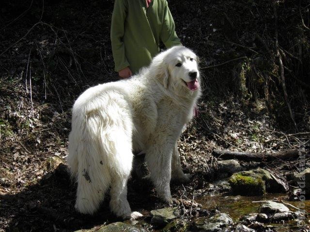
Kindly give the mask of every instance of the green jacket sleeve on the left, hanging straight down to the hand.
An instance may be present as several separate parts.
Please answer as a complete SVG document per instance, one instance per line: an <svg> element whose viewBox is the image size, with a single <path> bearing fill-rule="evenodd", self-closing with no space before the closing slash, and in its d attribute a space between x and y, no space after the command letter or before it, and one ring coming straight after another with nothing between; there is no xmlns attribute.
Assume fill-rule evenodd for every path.
<svg viewBox="0 0 310 232"><path fill-rule="evenodd" d="M129 66L129 62L125 56L125 46L123 42L124 36L124 23L127 14L127 1L126 0L115 0L114 9L111 20L111 45L112 54L114 58L116 72Z"/></svg>

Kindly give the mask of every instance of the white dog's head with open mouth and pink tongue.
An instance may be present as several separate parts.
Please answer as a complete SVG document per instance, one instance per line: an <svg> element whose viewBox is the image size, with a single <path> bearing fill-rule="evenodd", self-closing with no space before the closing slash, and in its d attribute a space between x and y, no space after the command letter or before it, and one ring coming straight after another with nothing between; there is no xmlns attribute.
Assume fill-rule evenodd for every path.
<svg viewBox="0 0 310 232"><path fill-rule="evenodd" d="M158 78L165 88L194 92L200 89L198 57L184 46L175 46L153 60Z"/></svg>

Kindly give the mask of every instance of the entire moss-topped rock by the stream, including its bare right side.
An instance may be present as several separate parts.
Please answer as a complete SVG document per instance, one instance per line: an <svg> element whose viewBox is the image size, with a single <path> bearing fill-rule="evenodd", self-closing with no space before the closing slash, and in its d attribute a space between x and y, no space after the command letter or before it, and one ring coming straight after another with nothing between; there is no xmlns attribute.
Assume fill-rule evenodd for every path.
<svg viewBox="0 0 310 232"><path fill-rule="evenodd" d="M258 168L235 173L229 179L233 194L261 196L265 192L286 192L285 184L267 170Z"/></svg>

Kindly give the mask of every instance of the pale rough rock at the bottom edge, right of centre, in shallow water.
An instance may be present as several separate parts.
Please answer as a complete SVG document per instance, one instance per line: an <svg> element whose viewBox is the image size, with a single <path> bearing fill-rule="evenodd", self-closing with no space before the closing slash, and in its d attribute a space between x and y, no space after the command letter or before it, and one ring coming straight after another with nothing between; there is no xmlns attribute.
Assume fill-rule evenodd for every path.
<svg viewBox="0 0 310 232"><path fill-rule="evenodd" d="M203 232L218 232L231 224L233 224L233 219L224 213L216 214L210 218L201 217L195 220L195 227L198 231Z"/></svg>

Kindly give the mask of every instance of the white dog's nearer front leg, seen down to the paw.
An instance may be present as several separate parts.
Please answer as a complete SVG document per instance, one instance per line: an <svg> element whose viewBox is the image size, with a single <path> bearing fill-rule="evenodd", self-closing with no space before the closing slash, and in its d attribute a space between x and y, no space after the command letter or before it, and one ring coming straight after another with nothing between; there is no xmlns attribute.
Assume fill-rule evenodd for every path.
<svg viewBox="0 0 310 232"><path fill-rule="evenodd" d="M156 143L149 147L145 154L145 161L150 171L151 180L156 187L158 197L167 203L172 203L170 180L174 143L165 140L163 137L160 140L163 143Z"/></svg>

